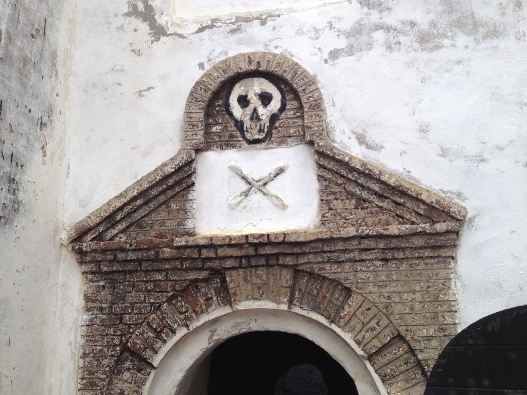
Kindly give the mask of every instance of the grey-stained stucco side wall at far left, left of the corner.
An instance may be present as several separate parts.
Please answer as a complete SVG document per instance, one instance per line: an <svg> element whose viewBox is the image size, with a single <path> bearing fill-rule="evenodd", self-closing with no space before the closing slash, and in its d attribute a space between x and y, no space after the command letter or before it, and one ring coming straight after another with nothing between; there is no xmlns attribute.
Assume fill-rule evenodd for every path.
<svg viewBox="0 0 527 395"><path fill-rule="evenodd" d="M80 313L79 270L60 243L67 160L62 6L62 0L0 3L0 393L6 395L75 389L74 380L57 374L75 377Z"/></svg>

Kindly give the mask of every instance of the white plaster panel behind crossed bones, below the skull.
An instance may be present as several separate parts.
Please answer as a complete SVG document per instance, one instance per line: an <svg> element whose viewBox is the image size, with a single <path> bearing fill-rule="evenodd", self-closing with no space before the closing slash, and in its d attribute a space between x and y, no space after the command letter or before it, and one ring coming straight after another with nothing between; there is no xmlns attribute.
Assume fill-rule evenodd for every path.
<svg viewBox="0 0 527 395"><path fill-rule="evenodd" d="M285 170L265 187L269 197L233 171L257 181L278 167ZM250 192L239 196L241 192ZM239 196L238 199L235 199ZM279 204L279 200L287 204ZM312 228L318 223L318 182L312 146L208 151L198 154L196 231L252 233Z"/></svg>

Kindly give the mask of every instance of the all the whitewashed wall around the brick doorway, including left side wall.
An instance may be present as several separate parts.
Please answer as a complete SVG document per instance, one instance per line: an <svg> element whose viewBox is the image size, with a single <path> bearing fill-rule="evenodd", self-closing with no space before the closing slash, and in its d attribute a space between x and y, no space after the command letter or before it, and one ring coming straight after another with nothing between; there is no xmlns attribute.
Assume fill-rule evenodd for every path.
<svg viewBox="0 0 527 395"><path fill-rule="evenodd" d="M4 66L6 26L16 30L13 0L0 4L0 81L13 86L10 95L31 97L30 86L43 86L47 101L57 91L64 102L42 105L53 110L55 131L53 138L46 134L46 165L41 133L38 143L8 140L9 122L0 120L3 150L13 142L23 152L32 165L21 180L38 186L17 192L22 209L12 222L0 220L7 262L0 279L0 393L25 393L24 380L36 386L45 377L57 389L52 393L72 393L74 373L62 388L57 382L64 363L77 360L80 280L71 255L58 246L61 222L82 219L174 155L191 86L240 52L294 58L317 78L335 143L466 206L456 259L462 327L527 303L527 5L521 0L264 6L207 0L199 7L189 0L65 0L63 11L58 0L26 0L18 6L32 3L35 20L27 17L24 40L35 27L42 32L36 19L46 12L63 23L53 38L58 49L43 55L56 59L52 86L18 77L31 67ZM38 198L33 189L41 191ZM6 196L0 191L0 206L10 202ZM30 291L17 293L22 290ZM49 340L56 326L66 333Z"/></svg>

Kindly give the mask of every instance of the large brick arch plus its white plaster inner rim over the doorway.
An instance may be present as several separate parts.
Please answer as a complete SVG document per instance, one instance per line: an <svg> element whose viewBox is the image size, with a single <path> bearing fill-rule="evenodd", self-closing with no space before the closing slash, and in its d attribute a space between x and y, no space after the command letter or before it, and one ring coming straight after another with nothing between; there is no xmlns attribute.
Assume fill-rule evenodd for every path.
<svg viewBox="0 0 527 395"><path fill-rule="evenodd" d="M272 313L266 318L262 311ZM313 325L332 334L322 336ZM126 343L107 393L174 393L219 342L262 328L311 336L337 358L347 355L353 363L343 362L360 393L424 390L426 374L411 347L363 295L313 273L267 266L227 270L224 278L194 283L161 304ZM208 347L191 340L200 335ZM345 353L331 346L333 338L346 344Z"/></svg>

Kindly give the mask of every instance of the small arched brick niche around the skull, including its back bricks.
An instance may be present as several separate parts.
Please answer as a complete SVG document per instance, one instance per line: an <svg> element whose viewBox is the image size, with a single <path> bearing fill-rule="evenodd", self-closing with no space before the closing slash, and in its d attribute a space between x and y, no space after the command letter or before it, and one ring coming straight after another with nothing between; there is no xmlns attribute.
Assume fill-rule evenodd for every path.
<svg viewBox="0 0 527 395"><path fill-rule="evenodd" d="M228 57L207 70L191 88L183 114L183 150L236 148L240 139L226 120L224 101L229 82L241 76L274 77L288 96L289 106L267 146L324 140L324 101L315 78L291 58L272 52Z"/></svg>

